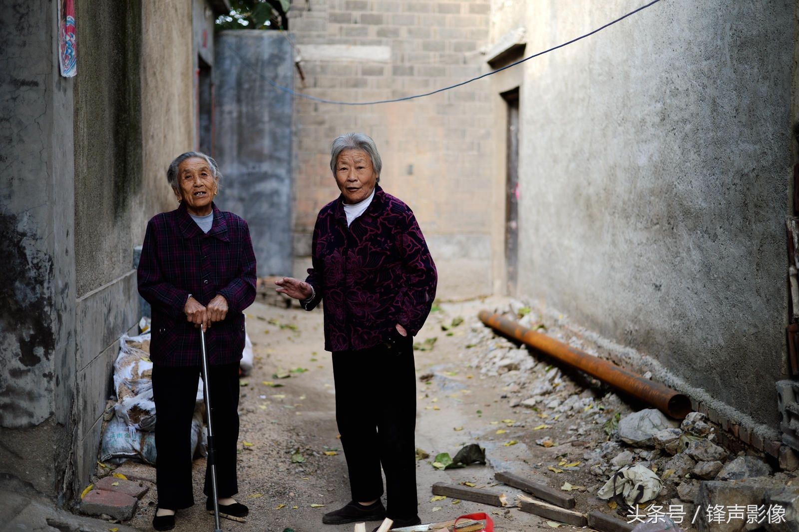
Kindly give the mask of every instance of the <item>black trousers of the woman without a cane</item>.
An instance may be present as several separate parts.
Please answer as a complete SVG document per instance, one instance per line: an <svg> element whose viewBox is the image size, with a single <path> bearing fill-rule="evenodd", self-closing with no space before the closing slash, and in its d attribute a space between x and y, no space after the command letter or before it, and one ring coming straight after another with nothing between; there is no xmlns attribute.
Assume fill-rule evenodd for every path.
<svg viewBox="0 0 799 532"><path fill-rule="evenodd" d="M333 353L336 422L349 470L352 499L383 494L389 518L415 518L416 376L413 339L393 347Z"/></svg>

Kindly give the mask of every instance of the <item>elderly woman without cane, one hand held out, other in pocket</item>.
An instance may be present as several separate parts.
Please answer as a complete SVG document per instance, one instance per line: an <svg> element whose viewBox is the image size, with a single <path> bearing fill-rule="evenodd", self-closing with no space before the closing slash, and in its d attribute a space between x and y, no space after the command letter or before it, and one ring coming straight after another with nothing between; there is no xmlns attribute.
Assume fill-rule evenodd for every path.
<svg viewBox="0 0 799 532"><path fill-rule="evenodd" d="M277 291L306 310L324 304L352 492L351 502L322 518L331 525L387 515L396 527L420 523L413 336L430 312L437 276L413 212L378 185L381 166L367 135L333 141L330 169L341 194L316 218L313 268L304 281L277 281ZM380 501L381 465L388 509Z"/></svg>

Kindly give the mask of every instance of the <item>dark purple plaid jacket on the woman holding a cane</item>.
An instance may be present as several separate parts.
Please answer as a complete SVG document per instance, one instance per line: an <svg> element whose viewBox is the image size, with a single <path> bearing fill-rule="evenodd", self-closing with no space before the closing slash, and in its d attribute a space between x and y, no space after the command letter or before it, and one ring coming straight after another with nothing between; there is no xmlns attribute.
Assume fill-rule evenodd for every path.
<svg viewBox="0 0 799 532"><path fill-rule="evenodd" d="M247 222L213 205L202 232L185 206L153 216L141 249L139 293L153 306L150 359L162 366L200 365L200 330L183 312L191 294L207 305L217 294L228 316L205 333L209 363L235 363L244 351L244 309L255 300L255 254Z"/></svg>

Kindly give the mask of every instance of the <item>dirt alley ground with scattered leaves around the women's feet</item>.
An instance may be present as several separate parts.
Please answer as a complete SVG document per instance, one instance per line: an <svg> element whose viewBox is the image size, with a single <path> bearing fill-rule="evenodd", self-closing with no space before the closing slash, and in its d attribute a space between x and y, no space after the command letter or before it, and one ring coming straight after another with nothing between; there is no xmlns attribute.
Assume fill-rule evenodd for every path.
<svg viewBox="0 0 799 532"><path fill-rule="evenodd" d="M519 399L529 396L529 391L520 390L514 383L507 384L507 378L481 375L479 367L469 367L475 363L475 351L486 350L476 344L475 336L481 336L483 344L494 338L479 322L477 313L482 308L507 308L507 304L508 300L503 298L440 304L416 336L416 343L425 346L432 341L425 343L426 339L436 339L429 350L415 352L417 375L426 375L427 379L416 381L416 446L430 454L429 458L416 462L419 517L422 522L443 522L461 514L485 511L495 520L496 530L552 530L555 523L547 524L543 518L513 507L516 494L521 492L498 485L494 473L499 470L544 478L556 488L570 482L576 486L572 491L578 499L575 510L600 508L613 514L606 506L602 508L603 503L590 493L595 494L601 482L579 464L571 465L581 462L586 451L605 442L602 426L593 427L594 431L588 434L582 426L585 423L579 429L570 425L567 430L570 423L566 417L571 417L571 412L563 414L559 423L556 420L560 416L554 410L547 413L543 407L520 406ZM237 500L249 506L250 514L244 523L223 519L222 528L233 532L282 532L287 527L296 532L352 530L352 525L321 523L322 514L349 501L344 454L336 438L332 364L330 354L323 348L322 312L256 302L248 308L247 316L255 359L251 375L241 379ZM463 323L451 327L456 317L463 317ZM449 330L443 331L442 324L450 327ZM542 362L537 367L543 365ZM547 365L545 371L549 372L551 367ZM539 372L543 375L543 371ZM285 373L290 377L275 376ZM563 375L562 379L569 378ZM580 383L570 383L574 393L582 392L580 397L593 397L591 394L595 392ZM391 392L392 383L388 379L386 393ZM514 401L514 396L519 399ZM593 401L586 399L592 406ZM626 405L619 409L630 411ZM551 425L547 426L543 420ZM545 436L563 443L555 447L536 445L535 440ZM439 452L454 456L468 443L479 443L486 448L487 465L454 470L437 470L431 465ZM324 454L326 451L328 455ZM304 461L297 463L300 459ZM564 465L567 470L562 469ZM195 506L178 512L176 530L213 530L213 518L205 512L205 497L201 493L204 470L205 459L195 460ZM496 508L451 498L431 502L430 486L435 482L494 486L493 489L507 494L511 507ZM591 484L594 486L588 487ZM151 489L127 524L152 530L154 511L155 490ZM368 523L368 530L377 524ZM562 524L559 528L566 532L576 527ZM690 526L683 528L691 530Z"/></svg>

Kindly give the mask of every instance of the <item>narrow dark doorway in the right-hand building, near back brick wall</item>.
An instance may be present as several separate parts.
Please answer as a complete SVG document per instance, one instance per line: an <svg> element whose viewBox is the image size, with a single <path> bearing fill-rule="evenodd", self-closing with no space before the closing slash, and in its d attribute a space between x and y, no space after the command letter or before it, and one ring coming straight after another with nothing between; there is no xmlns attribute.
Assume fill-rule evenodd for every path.
<svg viewBox="0 0 799 532"><path fill-rule="evenodd" d="M516 294L519 278L519 87L502 93L507 103L505 141L505 268L506 290Z"/></svg>

